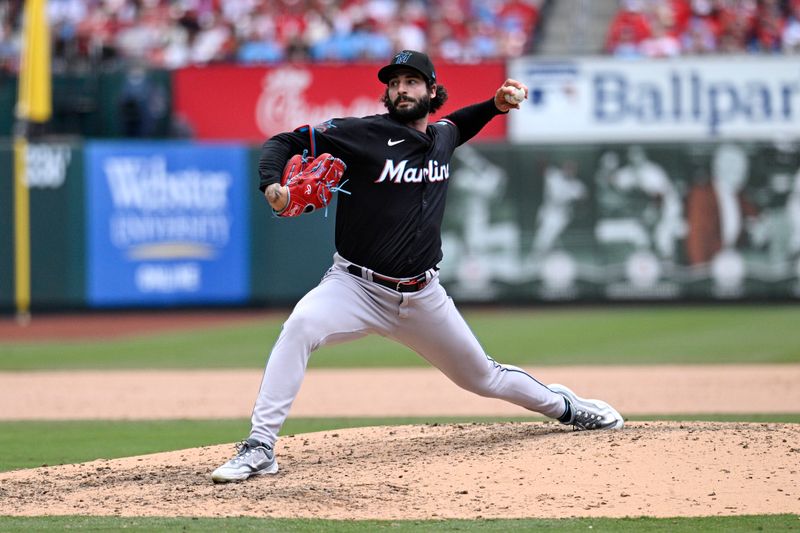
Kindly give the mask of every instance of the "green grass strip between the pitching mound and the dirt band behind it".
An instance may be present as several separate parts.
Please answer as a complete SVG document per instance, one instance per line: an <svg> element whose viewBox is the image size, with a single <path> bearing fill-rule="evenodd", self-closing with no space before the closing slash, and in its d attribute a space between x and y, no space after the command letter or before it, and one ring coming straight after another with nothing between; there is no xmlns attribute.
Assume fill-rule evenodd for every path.
<svg viewBox="0 0 800 533"><path fill-rule="evenodd" d="M282 435L330 429L405 424L543 420L541 417L289 418ZM800 424L796 415L642 416L631 420L714 420ZM212 444L245 438L249 420L25 421L0 422L0 471L82 463ZM231 448L233 451L233 448Z"/></svg>

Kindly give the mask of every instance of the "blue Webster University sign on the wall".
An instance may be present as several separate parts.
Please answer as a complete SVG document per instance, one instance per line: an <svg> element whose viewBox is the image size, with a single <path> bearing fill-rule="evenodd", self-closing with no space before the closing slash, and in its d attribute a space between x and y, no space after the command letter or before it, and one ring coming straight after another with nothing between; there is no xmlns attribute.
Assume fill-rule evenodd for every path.
<svg viewBox="0 0 800 533"><path fill-rule="evenodd" d="M229 144L88 143L89 305L244 301L246 156Z"/></svg>

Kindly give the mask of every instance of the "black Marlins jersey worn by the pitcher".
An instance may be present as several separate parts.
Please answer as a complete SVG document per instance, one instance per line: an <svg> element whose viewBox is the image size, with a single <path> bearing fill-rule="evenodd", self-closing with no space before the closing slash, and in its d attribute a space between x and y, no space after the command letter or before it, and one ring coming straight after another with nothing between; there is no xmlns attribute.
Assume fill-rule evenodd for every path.
<svg viewBox="0 0 800 533"><path fill-rule="evenodd" d="M264 143L260 188L278 182L286 161L309 150L347 165L336 207L336 250L380 274L410 277L442 259L441 225L456 147L500 111L494 99L460 109L425 133L388 114L335 118Z"/></svg>

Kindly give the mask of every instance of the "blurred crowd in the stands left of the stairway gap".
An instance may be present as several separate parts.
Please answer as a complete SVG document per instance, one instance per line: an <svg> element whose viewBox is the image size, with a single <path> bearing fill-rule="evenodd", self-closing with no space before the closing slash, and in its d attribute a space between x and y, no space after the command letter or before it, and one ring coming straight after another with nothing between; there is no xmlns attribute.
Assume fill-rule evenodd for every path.
<svg viewBox="0 0 800 533"><path fill-rule="evenodd" d="M530 51L546 0L48 0L54 70L137 61L477 62ZM0 70L17 68L23 0L0 2Z"/></svg>

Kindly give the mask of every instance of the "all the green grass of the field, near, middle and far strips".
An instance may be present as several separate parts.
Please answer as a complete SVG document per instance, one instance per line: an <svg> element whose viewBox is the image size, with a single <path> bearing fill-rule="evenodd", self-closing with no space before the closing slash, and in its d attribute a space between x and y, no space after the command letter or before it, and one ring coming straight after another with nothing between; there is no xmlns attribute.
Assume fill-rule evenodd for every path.
<svg viewBox="0 0 800 533"><path fill-rule="evenodd" d="M800 362L800 307L703 306L469 310L486 350L518 365ZM80 320L80 317L76 317ZM263 368L282 318L185 333L109 341L8 343L0 371L124 368ZM423 366L409 350L379 337L326 347L312 367ZM371 425L488 422L539 418L289 419L283 434ZM795 415L640 416L631 420L788 422ZM249 421L0 422L0 471L232 443ZM0 531L800 531L798 515L680 519L326 521L256 518L0 517Z"/></svg>

